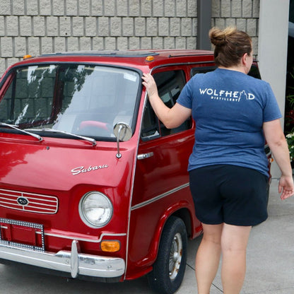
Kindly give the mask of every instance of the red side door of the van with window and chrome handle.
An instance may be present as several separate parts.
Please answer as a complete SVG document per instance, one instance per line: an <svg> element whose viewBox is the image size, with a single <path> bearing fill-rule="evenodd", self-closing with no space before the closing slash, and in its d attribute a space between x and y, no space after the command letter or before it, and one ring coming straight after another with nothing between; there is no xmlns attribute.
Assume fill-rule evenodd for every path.
<svg viewBox="0 0 294 294"><path fill-rule="evenodd" d="M160 98L172 107L187 82L184 68L169 67L153 73ZM134 178L129 234L129 258L149 264L155 260L158 228L163 215L188 206L194 217L187 165L194 144L192 118L167 129L147 102ZM167 212L169 211L170 212ZM196 218L195 218L196 223ZM193 223L193 225L195 225ZM199 223L200 225L200 223Z"/></svg>

